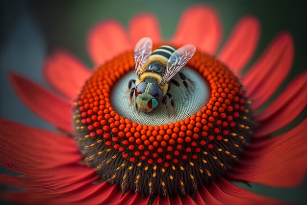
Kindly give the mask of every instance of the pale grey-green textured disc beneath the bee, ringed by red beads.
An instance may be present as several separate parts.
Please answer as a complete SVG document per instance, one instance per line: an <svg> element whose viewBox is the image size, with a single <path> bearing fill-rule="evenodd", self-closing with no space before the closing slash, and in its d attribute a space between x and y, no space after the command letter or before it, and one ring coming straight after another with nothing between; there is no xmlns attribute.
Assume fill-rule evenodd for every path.
<svg viewBox="0 0 307 205"><path fill-rule="evenodd" d="M130 90L128 82L136 78L135 72L128 73L114 87L111 95L111 104L116 112L128 118L131 122L143 125L159 126L184 120L201 110L209 101L211 93L205 80L190 68L183 68L182 73L187 77L188 88L183 85L183 80L177 74L173 79L179 82L179 86L170 82L168 92L174 97L173 107L169 98L166 97L166 106L160 103L152 112L145 113L141 109L137 112L135 107L135 97L130 103ZM135 87L135 85L132 85ZM175 112L174 112L175 109Z"/></svg>

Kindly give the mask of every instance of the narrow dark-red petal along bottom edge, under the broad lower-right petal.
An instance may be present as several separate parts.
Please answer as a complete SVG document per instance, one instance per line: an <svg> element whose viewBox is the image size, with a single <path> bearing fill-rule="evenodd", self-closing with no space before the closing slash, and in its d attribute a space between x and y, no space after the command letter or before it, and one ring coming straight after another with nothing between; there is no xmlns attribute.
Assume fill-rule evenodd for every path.
<svg viewBox="0 0 307 205"><path fill-rule="evenodd" d="M224 204L228 205L282 205L273 198L261 196L237 187L225 179L209 186L210 193Z"/></svg>

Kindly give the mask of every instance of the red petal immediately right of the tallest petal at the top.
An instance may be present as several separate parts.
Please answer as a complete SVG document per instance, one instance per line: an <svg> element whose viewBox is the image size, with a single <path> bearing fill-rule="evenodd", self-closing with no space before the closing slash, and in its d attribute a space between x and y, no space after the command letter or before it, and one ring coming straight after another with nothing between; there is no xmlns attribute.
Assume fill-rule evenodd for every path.
<svg viewBox="0 0 307 205"><path fill-rule="evenodd" d="M232 71L240 72L253 56L260 35L259 21L254 16L239 20L218 55Z"/></svg>

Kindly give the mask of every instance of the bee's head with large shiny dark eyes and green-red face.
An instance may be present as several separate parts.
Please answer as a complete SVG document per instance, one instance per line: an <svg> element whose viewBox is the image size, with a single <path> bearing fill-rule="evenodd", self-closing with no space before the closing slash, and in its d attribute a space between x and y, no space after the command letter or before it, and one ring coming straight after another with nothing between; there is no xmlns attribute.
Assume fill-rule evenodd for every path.
<svg viewBox="0 0 307 205"><path fill-rule="evenodd" d="M140 82L135 87L136 103L144 112L151 112L162 101L162 90L159 86L153 83Z"/></svg>

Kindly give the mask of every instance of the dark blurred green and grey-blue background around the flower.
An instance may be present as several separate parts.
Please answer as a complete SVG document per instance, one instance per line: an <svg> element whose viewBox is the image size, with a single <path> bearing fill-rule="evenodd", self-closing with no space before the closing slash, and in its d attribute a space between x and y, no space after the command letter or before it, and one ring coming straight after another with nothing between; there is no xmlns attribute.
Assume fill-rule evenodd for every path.
<svg viewBox="0 0 307 205"><path fill-rule="evenodd" d="M289 80L307 68L307 6L304 1L0 0L0 117L29 126L53 129L19 101L9 85L9 72L21 73L50 87L40 73L44 57L54 48L62 47L75 53L91 68L93 64L86 52L85 36L87 30L98 21L114 18L127 26L134 14L151 12L160 21L163 38L169 39L182 11L199 2L211 5L219 13L224 31L223 42L242 16L253 14L259 18L260 41L249 66L277 33L288 30L292 34L295 43L293 68L277 94ZM305 117L306 110L290 127ZM10 173L3 168L0 168L0 172ZM293 189L269 188L257 184L252 184L250 188L243 183L236 184L282 201L307 204L306 183Z"/></svg>

